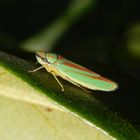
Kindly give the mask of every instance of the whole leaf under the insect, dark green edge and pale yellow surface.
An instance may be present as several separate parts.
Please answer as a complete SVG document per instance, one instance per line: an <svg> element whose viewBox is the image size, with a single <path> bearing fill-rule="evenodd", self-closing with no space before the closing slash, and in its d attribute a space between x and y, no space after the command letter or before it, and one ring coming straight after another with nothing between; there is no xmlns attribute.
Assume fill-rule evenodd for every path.
<svg viewBox="0 0 140 140"><path fill-rule="evenodd" d="M4 140L139 139L135 128L78 87L62 80L61 91L45 70L0 52L0 135ZM9 133L10 132L10 133Z"/></svg>

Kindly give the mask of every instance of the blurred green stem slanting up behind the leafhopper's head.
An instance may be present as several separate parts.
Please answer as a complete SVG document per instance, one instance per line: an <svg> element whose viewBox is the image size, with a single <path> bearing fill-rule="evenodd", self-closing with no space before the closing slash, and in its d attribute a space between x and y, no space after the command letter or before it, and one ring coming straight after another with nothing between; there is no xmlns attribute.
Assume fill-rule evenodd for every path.
<svg viewBox="0 0 140 140"><path fill-rule="evenodd" d="M94 0L71 1L64 15L60 16L54 23L40 33L23 42L21 44L22 49L31 52L37 50L52 50L54 44L69 27L93 7L94 2Z"/></svg>

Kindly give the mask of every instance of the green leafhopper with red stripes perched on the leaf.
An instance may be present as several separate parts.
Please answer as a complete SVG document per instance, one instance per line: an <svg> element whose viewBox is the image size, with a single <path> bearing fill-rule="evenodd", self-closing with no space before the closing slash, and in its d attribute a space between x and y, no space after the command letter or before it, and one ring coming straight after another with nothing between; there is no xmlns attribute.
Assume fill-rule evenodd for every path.
<svg viewBox="0 0 140 140"><path fill-rule="evenodd" d="M57 76L60 76L83 90L87 88L90 90L113 91L118 87L115 82L69 61L61 55L39 51L36 53L36 58L42 66L31 72L45 68L57 80L62 91L64 91L64 87L58 80Z"/></svg>

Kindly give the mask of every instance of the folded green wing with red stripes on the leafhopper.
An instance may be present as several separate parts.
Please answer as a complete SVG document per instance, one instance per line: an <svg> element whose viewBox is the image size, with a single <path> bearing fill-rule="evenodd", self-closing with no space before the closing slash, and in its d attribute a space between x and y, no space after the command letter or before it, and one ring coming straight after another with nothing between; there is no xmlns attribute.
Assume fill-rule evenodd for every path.
<svg viewBox="0 0 140 140"><path fill-rule="evenodd" d="M72 82L83 87L102 91L113 91L117 88L113 81L62 57L59 57L56 67Z"/></svg>

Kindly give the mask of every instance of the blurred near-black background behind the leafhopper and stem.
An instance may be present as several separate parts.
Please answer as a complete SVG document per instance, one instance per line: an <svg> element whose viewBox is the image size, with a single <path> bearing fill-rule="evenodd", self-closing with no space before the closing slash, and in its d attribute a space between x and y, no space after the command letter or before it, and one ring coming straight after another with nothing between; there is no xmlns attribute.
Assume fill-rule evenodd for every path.
<svg viewBox="0 0 140 140"><path fill-rule="evenodd" d="M0 50L35 62L20 44L64 15L71 1L1 0ZM95 1L51 51L116 81L117 91L95 96L140 130L138 0Z"/></svg>

